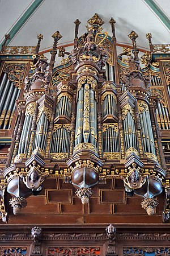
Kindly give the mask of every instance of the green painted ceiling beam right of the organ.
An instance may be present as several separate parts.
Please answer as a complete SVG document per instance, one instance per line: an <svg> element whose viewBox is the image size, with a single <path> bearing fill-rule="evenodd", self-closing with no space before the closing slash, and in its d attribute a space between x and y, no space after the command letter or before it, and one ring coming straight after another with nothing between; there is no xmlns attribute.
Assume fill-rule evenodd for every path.
<svg viewBox="0 0 170 256"><path fill-rule="evenodd" d="M156 5L154 0L144 0L147 5L154 11L154 13L159 17L160 20L164 23L164 25L170 30L170 20L167 15L163 13L163 11Z"/></svg>

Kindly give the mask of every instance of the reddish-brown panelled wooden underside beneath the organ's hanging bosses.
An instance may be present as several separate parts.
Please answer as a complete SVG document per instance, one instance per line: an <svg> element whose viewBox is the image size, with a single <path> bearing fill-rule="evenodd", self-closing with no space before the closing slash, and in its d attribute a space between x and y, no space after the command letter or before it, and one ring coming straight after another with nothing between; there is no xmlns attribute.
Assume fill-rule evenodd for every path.
<svg viewBox="0 0 170 256"><path fill-rule="evenodd" d="M145 222L145 218L151 218L153 223L162 222L163 194L158 196L159 205L155 216L147 216L145 209L141 207L142 197L129 196L124 190L122 180L108 179L107 184L94 187L87 205L83 205L76 197L76 188L63 183L61 178L48 178L43 187L45 189L43 188L39 195L27 198L27 207L23 208L18 216L14 216L12 208L8 206L11 224L31 223L32 218L37 223L103 223L103 218L114 223L124 222L125 217L130 221L131 216L134 222ZM26 215L27 218L24 218Z"/></svg>

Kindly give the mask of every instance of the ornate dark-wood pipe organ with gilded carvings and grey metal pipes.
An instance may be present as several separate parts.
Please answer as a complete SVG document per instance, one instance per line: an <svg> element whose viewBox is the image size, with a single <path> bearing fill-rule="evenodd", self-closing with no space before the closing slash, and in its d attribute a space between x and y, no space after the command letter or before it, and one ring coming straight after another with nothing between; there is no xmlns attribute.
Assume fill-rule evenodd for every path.
<svg viewBox="0 0 170 256"><path fill-rule="evenodd" d="M150 51L139 59L138 35L131 31L132 46L124 47L117 56L115 21L110 23L112 36L103 32L104 22L95 14L88 20L87 32L78 38L80 22L75 20L73 51L59 48L58 56L68 57L57 67L59 31L52 35L49 63L40 52L41 34L37 46L24 51L18 47L16 53L16 48L3 45L3 222L15 224L15 218L32 214L31 209L39 216L42 205L44 224L53 224L49 214L53 205L57 209L54 220L68 225L91 224L93 216L100 224L114 222L114 217L116 223L126 222L127 216L133 216L134 223L148 223L151 217L153 223L169 221L170 50L162 53L161 47L166 46L152 44L151 34L147 34ZM31 217L28 223L32 223ZM109 227L108 254L101 255L116 255L115 230ZM36 251L39 246L39 241L33 242L33 254L40 254ZM48 255L54 254L50 250ZM125 251L120 255L126 255Z"/></svg>

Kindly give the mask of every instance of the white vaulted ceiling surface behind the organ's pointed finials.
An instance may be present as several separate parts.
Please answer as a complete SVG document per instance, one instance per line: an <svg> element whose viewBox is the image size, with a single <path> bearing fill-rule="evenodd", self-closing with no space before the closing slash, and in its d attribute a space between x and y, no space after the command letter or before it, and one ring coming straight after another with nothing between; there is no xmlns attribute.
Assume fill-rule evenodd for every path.
<svg viewBox="0 0 170 256"><path fill-rule="evenodd" d="M37 1L37 0L35 0ZM154 0L152 0L154 1ZM24 11L34 2L31 0L0 0L0 40L10 32ZM79 19L79 36L86 32L86 22L95 13L104 20L104 31L111 34L111 17L116 20L117 42L131 44L128 34L134 30L138 34L137 45L148 49L146 33L152 33L152 43L170 43L170 31L145 0L44 0L27 22L11 40L11 46L33 46L37 44L37 34L43 34L41 51L52 48L51 35L59 30L63 36L59 44L69 44L74 39L75 19ZM170 1L154 1L159 9L170 16Z"/></svg>

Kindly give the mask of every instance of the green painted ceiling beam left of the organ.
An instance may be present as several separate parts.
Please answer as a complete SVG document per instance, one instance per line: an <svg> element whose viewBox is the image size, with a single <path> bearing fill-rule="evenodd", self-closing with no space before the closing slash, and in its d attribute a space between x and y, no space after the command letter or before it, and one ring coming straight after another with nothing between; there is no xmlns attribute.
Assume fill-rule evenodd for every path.
<svg viewBox="0 0 170 256"><path fill-rule="evenodd" d="M41 5L41 3L44 2L44 0L35 0L31 6L25 11L25 13L22 15L22 17L18 20L18 22L15 24L14 27L11 28L11 30L8 32L10 34L11 39L14 38L16 33L22 28L22 26L27 22L28 18L35 12L35 10ZM3 42L0 44L0 49L2 47ZM6 46L10 43L10 40L7 40Z"/></svg>

